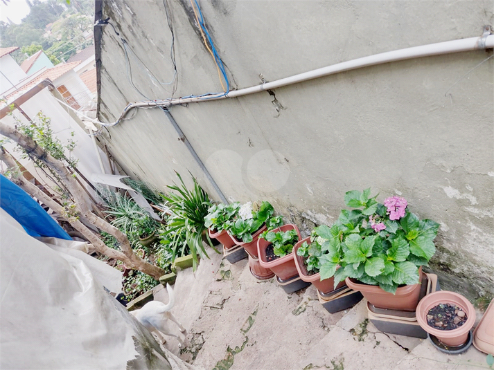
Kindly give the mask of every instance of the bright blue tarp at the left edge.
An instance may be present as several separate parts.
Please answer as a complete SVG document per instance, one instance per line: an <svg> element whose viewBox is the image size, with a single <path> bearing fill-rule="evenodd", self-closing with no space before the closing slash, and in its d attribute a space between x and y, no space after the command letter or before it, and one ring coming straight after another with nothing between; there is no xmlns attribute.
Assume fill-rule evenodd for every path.
<svg viewBox="0 0 494 370"><path fill-rule="evenodd" d="M41 205L3 175L0 175L0 207L20 223L32 237L72 240Z"/></svg>

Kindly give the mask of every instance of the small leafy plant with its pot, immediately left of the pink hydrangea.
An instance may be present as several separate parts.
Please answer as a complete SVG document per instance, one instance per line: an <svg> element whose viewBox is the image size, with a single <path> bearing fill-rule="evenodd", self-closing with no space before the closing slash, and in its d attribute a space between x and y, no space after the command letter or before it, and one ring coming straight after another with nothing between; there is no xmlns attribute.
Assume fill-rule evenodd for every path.
<svg viewBox="0 0 494 370"><path fill-rule="evenodd" d="M302 239L293 248L295 266L303 281L312 283L319 292L326 295L335 289L345 286L344 281L334 287L334 277L321 277L321 260L326 259L326 245L331 239L330 228L320 225L312 230L310 237ZM328 267L325 265L325 267ZM324 270L323 270L324 275Z"/></svg>

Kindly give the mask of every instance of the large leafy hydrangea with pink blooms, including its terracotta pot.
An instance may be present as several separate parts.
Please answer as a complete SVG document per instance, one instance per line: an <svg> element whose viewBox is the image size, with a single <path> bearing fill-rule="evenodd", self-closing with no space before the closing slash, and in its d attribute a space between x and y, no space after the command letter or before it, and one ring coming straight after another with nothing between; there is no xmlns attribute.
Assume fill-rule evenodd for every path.
<svg viewBox="0 0 494 370"><path fill-rule="evenodd" d="M330 228L321 270L324 277L334 276L335 285L345 280L376 307L415 311L421 266L434 255L439 223L418 219L405 198L391 196L382 204L370 193L346 192L353 210L342 210Z"/></svg>

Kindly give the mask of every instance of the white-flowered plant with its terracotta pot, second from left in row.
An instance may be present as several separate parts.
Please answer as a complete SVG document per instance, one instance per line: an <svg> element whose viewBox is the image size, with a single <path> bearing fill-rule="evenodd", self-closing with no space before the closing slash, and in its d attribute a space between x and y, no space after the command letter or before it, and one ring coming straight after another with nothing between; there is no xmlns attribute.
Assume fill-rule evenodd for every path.
<svg viewBox="0 0 494 370"><path fill-rule="evenodd" d="M261 232L278 228L283 224L282 216L273 216L274 208L263 201L252 204L247 202L238 210L237 219L229 226L228 234L233 243L242 246L249 255L258 257L257 239Z"/></svg>

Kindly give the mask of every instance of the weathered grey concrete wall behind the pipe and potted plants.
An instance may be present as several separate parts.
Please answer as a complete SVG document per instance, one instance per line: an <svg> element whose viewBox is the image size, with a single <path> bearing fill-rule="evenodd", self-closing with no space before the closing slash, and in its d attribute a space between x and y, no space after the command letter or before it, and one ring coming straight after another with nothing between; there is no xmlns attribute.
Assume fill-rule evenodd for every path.
<svg viewBox="0 0 494 370"><path fill-rule="evenodd" d="M260 74L273 81L389 50L480 36L482 26L494 21L490 0L199 2L233 89L260 84ZM99 4L103 18L110 17L141 59L127 50L136 88L149 99L170 98L171 85L159 83L173 77L163 2ZM221 91L191 3L168 4L178 70L173 96ZM473 51L382 64L286 86L274 95L170 112L227 197L267 199L310 225L308 220L333 221L350 189L372 187L380 201L400 194L412 212L441 223L434 266L492 293L491 55ZM123 44L105 26L101 120L115 120L127 102L147 100L126 70ZM174 180L173 169L189 169L216 196L166 115L159 109L134 113L102 138L123 168L159 186Z"/></svg>

